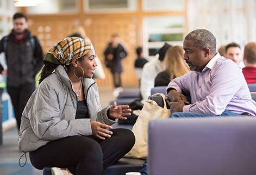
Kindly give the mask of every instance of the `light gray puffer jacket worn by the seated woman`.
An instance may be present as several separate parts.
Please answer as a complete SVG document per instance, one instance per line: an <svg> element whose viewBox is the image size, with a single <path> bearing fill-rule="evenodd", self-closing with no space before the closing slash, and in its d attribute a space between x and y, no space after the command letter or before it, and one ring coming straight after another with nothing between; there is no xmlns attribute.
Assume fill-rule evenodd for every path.
<svg viewBox="0 0 256 175"><path fill-rule="evenodd" d="M101 109L98 87L94 80L83 78L85 99L90 118L75 119L77 99L70 79L59 65L38 86L30 97L23 113L18 148L29 152L51 140L73 135L92 135L91 121L114 124L107 117L110 107Z"/></svg>

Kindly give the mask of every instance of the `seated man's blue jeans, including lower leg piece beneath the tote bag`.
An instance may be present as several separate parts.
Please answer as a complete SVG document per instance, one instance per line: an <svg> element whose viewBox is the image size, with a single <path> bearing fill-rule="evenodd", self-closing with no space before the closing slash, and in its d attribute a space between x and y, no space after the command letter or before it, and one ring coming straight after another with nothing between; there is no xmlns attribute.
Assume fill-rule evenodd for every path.
<svg viewBox="0 0 256 175"><path fill-rule="evenodd" d="M190 113L190 112L173 112L170 115L170 118L185 118L185 117L213 117L216 115L209 115L209 114L202 114L202 113ZM236 114L235 112L225 110L222 112L221 115L217 116L223 116L223 117L246 117L245 115ZM145 163L143 164L143 168L139 171L141 175L148 175L148 163L147 159Z"/></svg>

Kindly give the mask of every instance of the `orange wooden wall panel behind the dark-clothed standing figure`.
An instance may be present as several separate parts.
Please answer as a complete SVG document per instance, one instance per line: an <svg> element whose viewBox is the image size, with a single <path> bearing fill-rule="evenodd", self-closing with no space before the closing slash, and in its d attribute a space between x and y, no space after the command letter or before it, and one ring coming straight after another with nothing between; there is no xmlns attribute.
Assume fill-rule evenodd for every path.
<svg viewBox="0 0 256 175"><path fill-rule="evenodd" d="M128 56L122 60L123 86L138 87L138 78L134 71L134 61L136 59L136 18L134 17L109 17L109 18L91 18L91 23L86 25L86 34L95 45L96 53L102 62L104 62L104 50L110 40L110 35L117 33L122 40L122 45L126 47ZM113 79L110 70L104 66L106 78L98 79L97 83L104 86L113 86Z"/></svg>

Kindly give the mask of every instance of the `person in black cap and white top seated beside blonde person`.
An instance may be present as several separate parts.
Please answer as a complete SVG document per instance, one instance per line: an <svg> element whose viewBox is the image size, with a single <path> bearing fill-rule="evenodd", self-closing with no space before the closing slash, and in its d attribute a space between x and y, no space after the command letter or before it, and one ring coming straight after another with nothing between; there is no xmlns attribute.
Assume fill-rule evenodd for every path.
<svg viewBox="0 0 256 175"><path fill-rule="evenodd" d="M164 58L168 48L170 48L167 42L163 47L159 49L159 57L147 62L142 68L141 80L140 80L140 93L142 96L141 103L145 103L148 96L151 95L151 89L154 87L155 77L165 69Z"/></svg>

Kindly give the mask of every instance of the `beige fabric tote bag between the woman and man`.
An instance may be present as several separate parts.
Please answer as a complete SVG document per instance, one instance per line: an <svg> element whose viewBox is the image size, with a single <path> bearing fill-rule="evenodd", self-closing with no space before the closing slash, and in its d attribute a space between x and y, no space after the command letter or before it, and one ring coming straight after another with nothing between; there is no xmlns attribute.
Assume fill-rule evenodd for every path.
<svg viewBox="0 0 256 175"><path fill-rule="evenodd" d="M133 148L124 157L146 159L148 155L148 123L149 120L157 118L168 118L171 115L170 109L167 109L165 95L155 93L161 96L164 101L164 108L159 107L157 102L148 99L140 112L140 115L133 126L132 132L135 135L135 144Z"/></svg>

